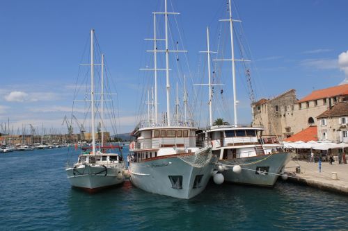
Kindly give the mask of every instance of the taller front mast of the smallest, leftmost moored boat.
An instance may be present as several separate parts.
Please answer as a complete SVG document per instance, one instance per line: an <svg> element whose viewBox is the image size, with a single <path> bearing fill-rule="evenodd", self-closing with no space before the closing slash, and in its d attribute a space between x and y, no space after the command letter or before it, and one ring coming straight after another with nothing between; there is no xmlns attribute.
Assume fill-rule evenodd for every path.
<svg viewBox="0 0 348 231"><path fill-rule="evenodd" d="M90 117L92 127L92 151L95 155L95 128L94 128L94 47L93 47L94 29L90 30Z"/></svg>

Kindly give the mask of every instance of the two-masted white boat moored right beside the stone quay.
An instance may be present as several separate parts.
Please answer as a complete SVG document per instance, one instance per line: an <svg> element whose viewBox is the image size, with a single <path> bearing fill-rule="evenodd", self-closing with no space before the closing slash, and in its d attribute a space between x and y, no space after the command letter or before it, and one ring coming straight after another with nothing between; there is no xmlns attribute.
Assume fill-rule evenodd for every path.
<svg viewBox="0 0 348 231"><path fill-rule="evenodd" d="M233 182L245 185L258 185L271 187L275 184L278 176L283 174L285 165L290 161L292 153L284 151L283 144L278 139L272 139L273 144L266 144L262 137L262 127L239 126L237 123L237 94L235 61L248 61L235 59L233 44L233 24L240 22L232 19L231 0L228 1L229 18L220 21L230 24L230 59L216 59L216 61L232 62L232 87L234 124L232 126L213 126L212 123L212 83L210 80L210 53L209 31L207 31L208 46L208 74L209 74L209 128L200 133L200 137L211 140L212 153L219 157L216 171L222 174L222 180L218 183Z"/></svg>

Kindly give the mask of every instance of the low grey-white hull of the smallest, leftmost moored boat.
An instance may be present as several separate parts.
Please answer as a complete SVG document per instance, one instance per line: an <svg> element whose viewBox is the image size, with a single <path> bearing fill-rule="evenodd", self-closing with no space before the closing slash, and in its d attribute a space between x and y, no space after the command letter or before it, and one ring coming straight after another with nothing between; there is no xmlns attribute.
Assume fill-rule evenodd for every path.
<svg viewBox="0 0 348 231"><path fill-rule="evenodd" d="M68 179L72 187L79 187L93 191L102 187L109 187L121 184L125 178L118 177L118 173L122 174L120 167L104 167L81 165L79 168L68 168Z"/></svg>

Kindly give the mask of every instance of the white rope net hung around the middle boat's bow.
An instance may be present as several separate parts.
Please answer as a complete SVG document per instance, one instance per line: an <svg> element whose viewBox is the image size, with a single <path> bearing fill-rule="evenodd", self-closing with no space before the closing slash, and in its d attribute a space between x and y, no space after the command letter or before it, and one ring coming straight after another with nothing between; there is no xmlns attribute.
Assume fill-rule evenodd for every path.
<svg viewBox="0 0 348 231"><path fill-rule="evenodd" d="M177 158L195 168L203 168L204 166L207 166L207 164L209 164L210 160L212 160L212 156L212 146L207 146L196 151L194 155L181 155Z"/></svg>

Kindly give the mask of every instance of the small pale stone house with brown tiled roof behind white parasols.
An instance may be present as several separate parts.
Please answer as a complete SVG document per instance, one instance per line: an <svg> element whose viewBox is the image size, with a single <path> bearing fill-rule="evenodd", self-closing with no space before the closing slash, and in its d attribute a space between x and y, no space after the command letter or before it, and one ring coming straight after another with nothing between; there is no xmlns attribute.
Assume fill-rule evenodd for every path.
<svg viewBox="0 0 348 231"><path fill-rule="evenodd" d="M320 140L348 142L348 101L336 103L317 117Z"/></svg>

